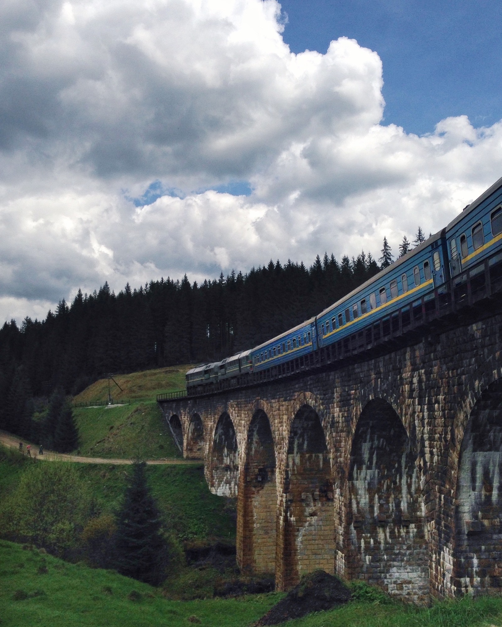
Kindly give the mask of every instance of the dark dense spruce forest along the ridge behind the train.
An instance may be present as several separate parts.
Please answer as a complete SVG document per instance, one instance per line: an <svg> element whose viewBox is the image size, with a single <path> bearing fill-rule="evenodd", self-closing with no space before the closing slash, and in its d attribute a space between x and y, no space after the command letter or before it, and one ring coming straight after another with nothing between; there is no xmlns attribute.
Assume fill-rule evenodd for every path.
<svg viewBox="0 0 502 627"><path fill-rule="evenodd" d="M247 274L191 284L151 281L119 294L99 292L61 301L43 321L12 320L0 329L0 427L29 414L24 400L56 389L76 394L108 372L216 361L250 348L302 320L375 275L378 264L361 253L341 263L318 256L303 263L270 261Z"/></svg>

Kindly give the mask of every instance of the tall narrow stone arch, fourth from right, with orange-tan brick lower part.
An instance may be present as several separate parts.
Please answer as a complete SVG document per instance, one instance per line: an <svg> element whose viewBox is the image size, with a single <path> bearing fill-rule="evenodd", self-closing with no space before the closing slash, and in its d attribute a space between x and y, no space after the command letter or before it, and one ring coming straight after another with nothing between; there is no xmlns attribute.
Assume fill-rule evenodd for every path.
<svg viewBox="0 0 502 627"><path fill-rule="evenodd" d="M247 433L242 492L242 557L252 572L275 572L277 484L275 446L267 414L255 411Z"/></svg>

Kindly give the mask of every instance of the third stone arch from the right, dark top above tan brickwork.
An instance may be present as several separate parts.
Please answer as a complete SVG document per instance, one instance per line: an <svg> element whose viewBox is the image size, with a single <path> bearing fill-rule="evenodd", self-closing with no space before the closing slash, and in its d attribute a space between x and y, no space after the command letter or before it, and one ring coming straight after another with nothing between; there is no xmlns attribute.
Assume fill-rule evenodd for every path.
<svg viewBox="0 0 502 627"><path fill-rule="evenodd" d="M280 587L307 572L334 573L333 479L318 413L304 404L289 431L284 482L284 556Z"/></svg>

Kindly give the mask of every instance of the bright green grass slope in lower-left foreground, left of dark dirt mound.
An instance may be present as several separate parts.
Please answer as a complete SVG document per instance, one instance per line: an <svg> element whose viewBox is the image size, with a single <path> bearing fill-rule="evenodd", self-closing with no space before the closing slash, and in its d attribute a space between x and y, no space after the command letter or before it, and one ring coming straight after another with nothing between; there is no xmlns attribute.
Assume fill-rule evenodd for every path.
<svg viewBox="0 0 502 627"><path fill-rule="evenodd" d="M197 624L189 621L193 616L208 627L239 627L254 623L275 601L274 594L169 601L134 579L68 564L11 542L0 542L0 565L2 627L189 627Z"/></svg>

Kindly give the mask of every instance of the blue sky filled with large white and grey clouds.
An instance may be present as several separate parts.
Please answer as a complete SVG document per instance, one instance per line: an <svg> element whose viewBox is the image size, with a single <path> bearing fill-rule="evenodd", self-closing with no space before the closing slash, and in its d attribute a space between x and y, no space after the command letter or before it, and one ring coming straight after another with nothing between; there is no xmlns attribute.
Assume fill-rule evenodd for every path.
<svg viewBox="0 0 502 627"><path fill-rule="evenodd" d="M442 228L502 176L496 5L4 0L0 320Z"/></svg>

